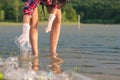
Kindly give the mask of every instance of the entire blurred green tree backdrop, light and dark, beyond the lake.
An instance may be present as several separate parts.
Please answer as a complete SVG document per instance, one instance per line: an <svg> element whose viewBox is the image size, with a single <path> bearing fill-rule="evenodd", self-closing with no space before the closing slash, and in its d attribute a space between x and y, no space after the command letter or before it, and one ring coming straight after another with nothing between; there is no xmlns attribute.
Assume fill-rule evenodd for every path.
<svg viewBox="0 0 120 80"><path fill-rule="evenodd" d="M21 0L0 0L0 22L22 22L22 9L24 3ZM42 13L39 6L39 20L48 18ZM81 23L120 23L120 0L70 0L62 8L62 20L64 22L77 22L80 15Z"/></svg>

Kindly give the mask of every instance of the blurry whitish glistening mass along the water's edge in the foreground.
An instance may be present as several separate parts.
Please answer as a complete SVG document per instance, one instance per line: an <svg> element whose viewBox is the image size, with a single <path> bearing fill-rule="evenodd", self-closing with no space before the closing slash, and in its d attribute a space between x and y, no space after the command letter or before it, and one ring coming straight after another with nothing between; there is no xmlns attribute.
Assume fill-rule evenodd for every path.
<svg viewBox="0 0 120 80"><path fill-rule="evenodd" d="M0 58L0 72L5 80L93 80L74 71L64 71L59 74L55 74L52 70L34 71L30 67L32 66L30 62L20 64L18 57Z"/></svg>

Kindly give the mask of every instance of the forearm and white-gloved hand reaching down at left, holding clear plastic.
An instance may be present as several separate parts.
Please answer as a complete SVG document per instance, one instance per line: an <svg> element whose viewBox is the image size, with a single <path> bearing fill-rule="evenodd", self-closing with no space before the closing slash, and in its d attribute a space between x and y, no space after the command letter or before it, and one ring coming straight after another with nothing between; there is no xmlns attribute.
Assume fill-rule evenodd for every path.
<svg viewBox="0 0 120 80"><path fill-rule="evenodd" d="M20 49L24 49L24 45L29 44L29 29L30 29L30 16L23 15L22 34L16 39L15 43ZM29 48L30 46L28 46Z"/></svg>

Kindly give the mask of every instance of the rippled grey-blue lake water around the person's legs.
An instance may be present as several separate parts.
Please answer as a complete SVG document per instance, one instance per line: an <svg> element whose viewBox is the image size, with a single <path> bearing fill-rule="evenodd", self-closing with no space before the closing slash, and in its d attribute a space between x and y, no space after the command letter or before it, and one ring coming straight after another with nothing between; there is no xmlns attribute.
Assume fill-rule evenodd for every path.
<svg viewBox="0 0 120 80"><path fill-rule="evenodd" d="M43 32L44 26L39 25L40 56L49 55L49 34ZM3 57L19 54L15 37L20 34L21 25L0 25ZM120 76L120 25L62 25L58 54L64 59L63 71ZM47 57L40 58L43 68L48 62Z"/></svg>

